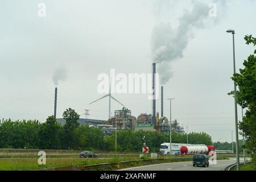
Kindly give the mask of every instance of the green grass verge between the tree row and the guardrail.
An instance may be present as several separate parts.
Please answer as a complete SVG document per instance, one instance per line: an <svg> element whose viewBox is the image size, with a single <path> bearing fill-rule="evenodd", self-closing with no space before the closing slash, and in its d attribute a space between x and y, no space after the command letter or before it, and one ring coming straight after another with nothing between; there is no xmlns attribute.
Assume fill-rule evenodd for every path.
<svg viewBox="0 0 256 182"><path fill-rule="evenodd" d="M28 151L27 151L28 152ZM60 151L53 151L53 152L60 152ZM71 151L74 152L74 151ZM61 152L59 153L61 154ZM62 153L63 154L63 153ZM65 154L65 153L64 153ZM66 153L67 154L67 153ZM96 153L97 154L97 153ZM24 153L23 153L24 155ZM182 161L189 161L192 159L185 159L187 157L192 156L162 156L160 158L174 158L173 160L160 160L154 162L134 162L129 165L123 166L120 162L123 161L134 161L134 160L141 160L138 156L120 156L120 155L113 155L109 154L104 156L104 159L80 159L79 156L67 157L67 156L54 156L54 157L47 157L46 165L39 165L38 164L38 157L39 156L18 156L15 158L0 158L0 171L8 170L8 171L27 171L27 170L37 170L37 169L46 169L46 168L53 168L53 167L64 167L64 166L89 166L92 164L102 164L102 163L114 163L113 168L123 168L129 166L144 166L147 164L156 164L156 163L168 163L168 162L182 162ZM176 160L175 158L183 158L182 160ZM102 158L102 156L101 156ZM106 159L105 159L106 158ZM150 159L150 158L147 158ZM227 156L218 156L218 160L228 159Z"/></svg>

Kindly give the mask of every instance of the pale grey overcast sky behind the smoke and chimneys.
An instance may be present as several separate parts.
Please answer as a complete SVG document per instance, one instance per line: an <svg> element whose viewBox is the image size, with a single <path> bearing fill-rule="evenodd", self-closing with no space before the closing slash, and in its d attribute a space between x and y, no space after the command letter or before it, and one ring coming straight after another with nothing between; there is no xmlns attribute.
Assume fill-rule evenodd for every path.
<svg viewBox="0 0 256 182"><path fill-rule="evenodd" d="M46 5L46 17L39 17L38 5ZM210 2L205 3L208 13ZM215 2L215 1L214 1ZM184 23L191 1L109 0L109 1L14 1L0 3L0 117L39 119L53 114L52 77L61 68L67 79L59 81L57 117L72 107L81 115L90 110L90 118L108 119L108 98L97 92L100 73L151 73L152 37L161 23L172 28ZM256 1L217 3L217 16L204 19L204 25L189 32L182 56L160 69L170 73L164 85L164 97L174 97L172 119L189 132L204 131L213 141L231 141L234 131L232 35L236 30L237 70L242 68L254 48L243 37L256 36ZM187 11L184 11L187 10ZM190 17L190 16L189 16ZM192 19L192 18L191 18ZM187 17L189 23L189 18ZM208 23L209 21L209 23ZM187 27L191 28L191 27ZM168 30L168 28L167 28ZM168 38L176 34L167 31ZM165 40L165 39L163 39ZM176 41L179 46L179 39ZM175 44L171 45L176 48ZM148 94L113 94L138 117L151 113ZM170 103L164 100L164 115L170 117ZM112 113L122 106L112 101ZM160 111L160 98L156 101ZM238 106L241 119L241 107Z"/></svg>

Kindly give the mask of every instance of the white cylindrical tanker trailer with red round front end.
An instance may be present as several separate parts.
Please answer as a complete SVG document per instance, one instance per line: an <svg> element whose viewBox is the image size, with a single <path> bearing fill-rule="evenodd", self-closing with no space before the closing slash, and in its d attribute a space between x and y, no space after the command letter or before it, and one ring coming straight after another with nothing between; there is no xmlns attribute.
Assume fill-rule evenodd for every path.
<svg viewBox="0 0 256 182"><path fill-rule="evenodd" d="M208 154L208 153L209 153L209 149L204 144L192 144L192 145L180 147L181 155Z"/></svg>

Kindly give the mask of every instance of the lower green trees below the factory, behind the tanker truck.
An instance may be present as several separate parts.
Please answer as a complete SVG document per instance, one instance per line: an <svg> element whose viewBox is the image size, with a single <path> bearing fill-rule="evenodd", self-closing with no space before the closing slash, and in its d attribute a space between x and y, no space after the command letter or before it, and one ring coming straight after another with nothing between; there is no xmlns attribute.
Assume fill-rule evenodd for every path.
<svg viewBox="0 0 256 182"><path fill-rule="evenodd" d="M166 133L122 130L117 132L117 151L121 152L141 152L143 146L143 136L146 137L146 145L150 147L150 152L159 151L160 144L170 142L170 135ZM190 144L212 144L212 138L205 133L188 134ZM172 143L187 143L187 135L172 132ZM106 138L106 148L115 150L115 133Z"/></svg>

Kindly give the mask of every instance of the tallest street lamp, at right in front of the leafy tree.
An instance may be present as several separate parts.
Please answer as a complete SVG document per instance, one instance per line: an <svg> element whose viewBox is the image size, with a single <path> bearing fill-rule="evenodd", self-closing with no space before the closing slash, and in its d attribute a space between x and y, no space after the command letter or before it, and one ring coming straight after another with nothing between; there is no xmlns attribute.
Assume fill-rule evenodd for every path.
<svg viewBox="0 0 256 182"><path fill-rule="evenodd" d="M226 32L233 34L233 65L234 74L236 73L236 56L235 56L235 46L234 46L234 30L227 30ZM240 160L239 160L239 141L238 141L238 121L237 121L237 86L234 82L234 105L235 105L235 125L236 125L236 153L237 153L237 171L240 171Z"/></svg>

